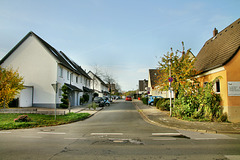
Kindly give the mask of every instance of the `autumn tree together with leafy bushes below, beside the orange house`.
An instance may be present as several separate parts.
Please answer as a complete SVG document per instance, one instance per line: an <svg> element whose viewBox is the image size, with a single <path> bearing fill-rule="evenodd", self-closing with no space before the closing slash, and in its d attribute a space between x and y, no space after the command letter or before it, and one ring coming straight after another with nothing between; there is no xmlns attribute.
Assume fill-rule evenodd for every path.
<svg viewBox="0 0 240 160"><path fill-rule="evenodd" d="M227 120L220 106L220 95L215 94L213 82L209 82L204 88L199 86L196 79L198 72L194 68L195 59L191 58L190 49L185 53L184 44L182 51L167 53L159 62L158 88L161 91L169 88L169 62L171 62L171 77L174 81L171 87L175 93L173 116L182 119L204 119L207 121ZM181 53L181 55L179 55ZM157 107L164 110L169 105L168 102L158 102Z"/></svg>

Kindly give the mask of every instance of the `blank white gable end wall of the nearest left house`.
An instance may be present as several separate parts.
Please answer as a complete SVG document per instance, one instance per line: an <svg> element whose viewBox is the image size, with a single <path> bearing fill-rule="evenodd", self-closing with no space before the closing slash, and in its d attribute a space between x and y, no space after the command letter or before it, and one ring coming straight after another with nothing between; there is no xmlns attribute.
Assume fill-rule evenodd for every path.
<svg viewBox="0 0 240 160"><path fill-rule="evenodd" d="M24 77L24 85L34 87L33 106L55 104L55 92L51 84L56 83L57 63L34 36L29 36L4 61L2 67L18 69Z"/></svg>

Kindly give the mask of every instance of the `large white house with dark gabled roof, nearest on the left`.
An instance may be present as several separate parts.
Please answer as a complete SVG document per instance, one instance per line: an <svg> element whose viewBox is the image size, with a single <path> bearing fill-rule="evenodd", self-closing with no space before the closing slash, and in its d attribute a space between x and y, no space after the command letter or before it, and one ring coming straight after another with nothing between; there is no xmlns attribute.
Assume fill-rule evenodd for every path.
<svg viewBox="0 0 240 160"><path fill-rule="evenodd" d="M84 91L91 92L88 74L33 32L9 51L0 65L17 69L24 78L25 89L19 95L19 107L54 108L56 103L61 103L64 84L70 90L71 106L80 104ZM54 90L56 84L58 87Z"/></svg>

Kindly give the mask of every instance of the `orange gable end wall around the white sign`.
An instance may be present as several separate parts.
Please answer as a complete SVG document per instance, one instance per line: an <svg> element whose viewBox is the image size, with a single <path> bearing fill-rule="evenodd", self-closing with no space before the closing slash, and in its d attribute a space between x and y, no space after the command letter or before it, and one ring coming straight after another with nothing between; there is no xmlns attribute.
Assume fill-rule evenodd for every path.
<svg viewBox="0 0 240 160"><path fill-rule="evenodd" d="M227 71L228 82L240 82L240 51L238 51L238 53L224 66L224 68ZM228 90L226 93L228 94ZM240 122L240 96L228 96L227 106L229 120L232 122Z"/></svg>

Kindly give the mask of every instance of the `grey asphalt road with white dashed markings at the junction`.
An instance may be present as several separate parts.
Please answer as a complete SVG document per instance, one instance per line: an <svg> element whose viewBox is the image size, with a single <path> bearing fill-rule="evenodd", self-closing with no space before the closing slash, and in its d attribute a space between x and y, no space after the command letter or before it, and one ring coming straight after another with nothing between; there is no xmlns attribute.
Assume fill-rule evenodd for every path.
<svg viewBox="0 0 240 160"><path fill-rule="evenodd" d="M239 160L240 135L154 126L122 100L68 125L0 131L0 159Z"/></svg>

